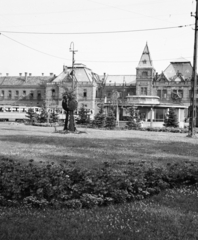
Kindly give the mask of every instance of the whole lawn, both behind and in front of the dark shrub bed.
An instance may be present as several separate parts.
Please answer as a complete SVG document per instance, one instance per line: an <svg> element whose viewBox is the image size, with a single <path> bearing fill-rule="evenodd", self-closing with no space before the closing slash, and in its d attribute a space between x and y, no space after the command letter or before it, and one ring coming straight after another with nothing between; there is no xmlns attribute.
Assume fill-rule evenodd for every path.
<svg viewBox="0 0 198 240"><path fill-rule="evenodd" d="M59 128L60 130L61 128ZM0 123L0 157L53 161L94 168L103 162L198 162L198 139L180 133L80 129L54 133L50 127ZM80 210L0 208L1 240L197 240L198 190L169 189L149 199Z"/></svg>

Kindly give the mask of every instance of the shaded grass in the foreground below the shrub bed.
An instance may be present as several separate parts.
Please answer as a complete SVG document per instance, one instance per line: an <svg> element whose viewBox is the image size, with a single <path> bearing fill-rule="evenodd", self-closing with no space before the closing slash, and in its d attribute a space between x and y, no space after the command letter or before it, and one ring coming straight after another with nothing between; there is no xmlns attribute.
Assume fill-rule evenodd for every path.
<svg viewBox="0 0 198 240"><path fill-rule="evenodd" d="M167 190L104 208L0 208L1 240L197 240L198 191Z"/></svg>

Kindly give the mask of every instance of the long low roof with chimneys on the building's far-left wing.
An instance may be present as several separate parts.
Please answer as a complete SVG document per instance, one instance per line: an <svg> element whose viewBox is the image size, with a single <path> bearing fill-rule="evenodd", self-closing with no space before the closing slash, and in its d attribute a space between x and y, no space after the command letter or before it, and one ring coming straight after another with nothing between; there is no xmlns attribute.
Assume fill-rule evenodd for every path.
<svg viewBox="0 0 198 240"><path fill-rule="evenodd" d="M5 76L0 77L0 86L35 86L51 82L54 76Z"/></svg>

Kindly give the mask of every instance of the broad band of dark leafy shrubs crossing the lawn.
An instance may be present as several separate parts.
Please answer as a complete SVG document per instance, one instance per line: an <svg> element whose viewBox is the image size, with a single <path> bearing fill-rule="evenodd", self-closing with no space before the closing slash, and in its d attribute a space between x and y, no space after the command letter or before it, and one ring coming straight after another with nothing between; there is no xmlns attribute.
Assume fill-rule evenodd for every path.
<svg viewBox="0 0 198 240"><path fill-rule="evenodd" d="M143 165L143 166L142 166ZM198 184L196 164L166 169L131 164L125 170L81 170L69 165L0 161L0 205L37 208L91 208L142 200L164 189Z"/></svg>

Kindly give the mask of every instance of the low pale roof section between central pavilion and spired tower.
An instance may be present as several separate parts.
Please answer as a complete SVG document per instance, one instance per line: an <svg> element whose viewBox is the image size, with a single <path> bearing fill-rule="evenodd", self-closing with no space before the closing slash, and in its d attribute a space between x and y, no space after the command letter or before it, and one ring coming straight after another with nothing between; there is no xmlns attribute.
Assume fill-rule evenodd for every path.
<svg viewBox="0 0 198 240"><path fill-rule="evenodd" d="M106 85L135 85L136 75L107 75Z"/></svg>

